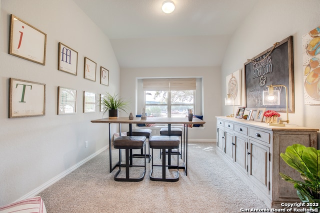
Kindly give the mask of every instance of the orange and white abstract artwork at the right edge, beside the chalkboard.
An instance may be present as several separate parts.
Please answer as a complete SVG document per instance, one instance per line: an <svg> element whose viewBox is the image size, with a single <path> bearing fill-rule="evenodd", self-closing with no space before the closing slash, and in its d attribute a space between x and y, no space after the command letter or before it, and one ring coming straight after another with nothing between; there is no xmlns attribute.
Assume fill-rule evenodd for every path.
<svg viewBox="0 0 320 213"><path fill-rule="evenodd" d="M304 104L320 104L320 26L302 37Z"/></svg>

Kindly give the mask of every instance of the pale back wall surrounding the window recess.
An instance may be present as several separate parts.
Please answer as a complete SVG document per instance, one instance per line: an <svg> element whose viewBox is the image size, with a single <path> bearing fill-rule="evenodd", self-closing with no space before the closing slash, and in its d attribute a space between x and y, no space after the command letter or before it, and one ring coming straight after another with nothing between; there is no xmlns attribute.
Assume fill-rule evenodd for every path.
<svg viewBox="0 0 320 213"><path fill-rule="evenodd" d="M192 128L188 131L188 138L215 141L216 121L215 116L220 115L221 105L221 82L219 67L143 67L143 68L121 68L120 71L120 93L122 97L130 99L132 113L139 112L136 109L136 78L143 77L203 77L203 130Z"/></svg>

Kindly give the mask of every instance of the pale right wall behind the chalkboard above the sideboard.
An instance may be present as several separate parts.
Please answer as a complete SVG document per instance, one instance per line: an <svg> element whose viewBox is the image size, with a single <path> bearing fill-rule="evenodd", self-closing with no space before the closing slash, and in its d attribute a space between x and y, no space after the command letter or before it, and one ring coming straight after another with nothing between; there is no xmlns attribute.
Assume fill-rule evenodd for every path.
<svg viewBox="0 0 320 213"><path fill-rule="evenodd" d="M226 75L239 68L243 71L246 59L293 35L295 112L289 113L289 120L291 124L320 128L320 105L304 105L302 69L302 35L320 25L319 13L319 0L257 1L229 42L221 66L222 94L226 95ZM244 95L242 102L245 104ZM222 114L232 111L231 107L222 109ZM280 114L285 118L285 113Z"/></svg>

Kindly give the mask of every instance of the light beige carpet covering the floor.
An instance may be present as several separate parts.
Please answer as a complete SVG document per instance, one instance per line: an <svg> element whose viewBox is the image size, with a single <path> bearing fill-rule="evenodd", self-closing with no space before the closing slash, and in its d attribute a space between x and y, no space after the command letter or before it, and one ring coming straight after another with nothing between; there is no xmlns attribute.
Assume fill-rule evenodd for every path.
<svg viewBox="0 0 320 213"><path fill-rule="evenodd" d="M39 193L47 212L240 212L240 208L266 208L215 153L215 143L189 142L188 173L186 176L179 169L177 182L151 181L151 163L140 182L114 181L117 168L109 173L108 155L108 150L103 151ZM160 163L158 149L153 157ZM134 158L133 163L140 162ZM141 169L135 168L135 172Z"/></svg>

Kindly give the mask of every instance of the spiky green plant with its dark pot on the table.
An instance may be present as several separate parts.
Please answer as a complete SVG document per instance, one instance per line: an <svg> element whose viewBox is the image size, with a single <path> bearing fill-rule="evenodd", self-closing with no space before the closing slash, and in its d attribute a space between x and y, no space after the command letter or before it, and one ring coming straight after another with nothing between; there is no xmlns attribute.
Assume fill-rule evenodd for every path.
<svg viewBox="0 0 320 213"><path fill-rule="evenodd" d="M103 114L108 111L109 119L117 119L118 118L118 111L122 110L126 112L128 108L128 101L124 100L119 96L119 94L106 93L101 100L101 106Z"/></svg>

